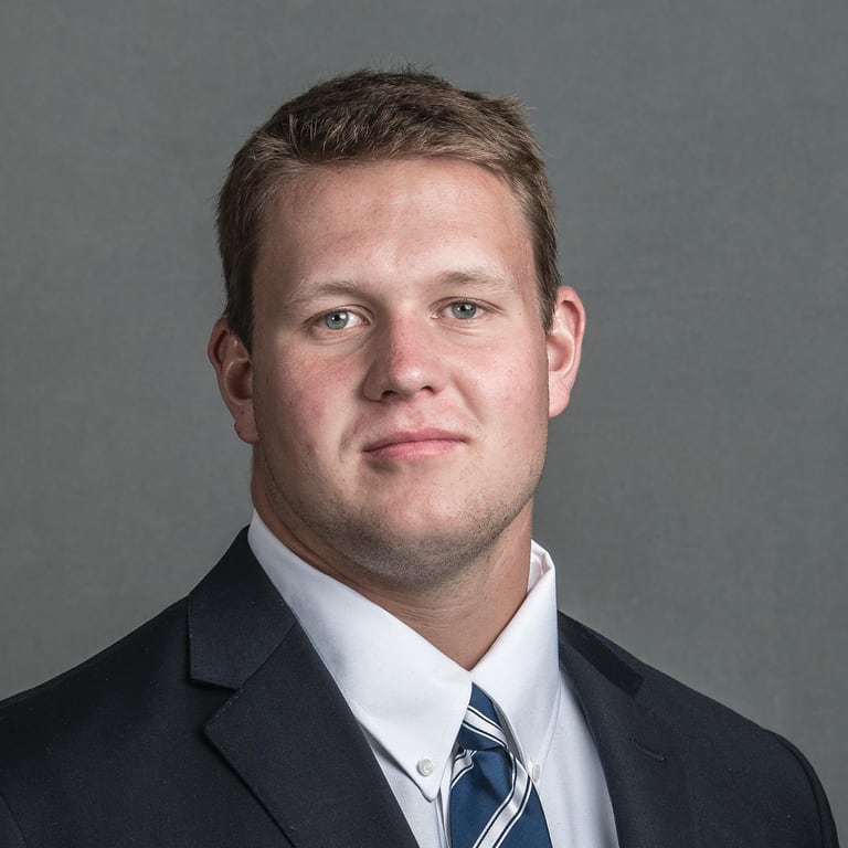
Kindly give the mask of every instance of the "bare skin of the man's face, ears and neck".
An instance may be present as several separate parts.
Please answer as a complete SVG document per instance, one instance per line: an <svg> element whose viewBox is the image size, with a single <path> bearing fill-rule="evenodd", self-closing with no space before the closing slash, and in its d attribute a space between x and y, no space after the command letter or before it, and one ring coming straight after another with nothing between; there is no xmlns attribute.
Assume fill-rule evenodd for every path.
<svg viewBox="0 0 848 848"><path fill-rule="evenodd" d="M451 158L316 168L279 190L251 353L209 356L271 530L466 668L520 606L548 420L585 316L539 312L510 190Z"/></svg>

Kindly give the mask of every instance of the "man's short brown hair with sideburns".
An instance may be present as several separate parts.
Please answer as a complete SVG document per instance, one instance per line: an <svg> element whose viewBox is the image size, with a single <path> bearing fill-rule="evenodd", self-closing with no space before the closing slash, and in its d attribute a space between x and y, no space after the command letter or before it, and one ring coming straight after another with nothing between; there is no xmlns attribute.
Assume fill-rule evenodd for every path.
<svg viewBox="0 0 848 848"><path fill-rule="evenodd" d="M235 155L218 203L231 329L250 349L252 278L268 201L310 166L451 156L505 180L530 226L550 328L560 273L554 202L539 145L515 97L460 91L434 74L358 71L284 104Z"/></svg>

